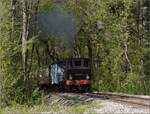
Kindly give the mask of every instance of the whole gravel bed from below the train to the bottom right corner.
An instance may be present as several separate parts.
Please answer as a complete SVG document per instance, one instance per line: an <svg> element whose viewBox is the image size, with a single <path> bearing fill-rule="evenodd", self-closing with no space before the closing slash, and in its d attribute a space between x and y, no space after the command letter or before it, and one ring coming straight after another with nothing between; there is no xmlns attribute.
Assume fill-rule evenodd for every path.
<svg viewBox="0 0 150 114"><path fill-rule="evenodd" d="M85 95L71 93L54 94L47 97L49 105L60 103L63 106L72 106L86 104L87 102L95 103L93 107L96 114L150 114L150 108L139 105L131 105L122 102L115 102L109 99L91 98ZM85 112L85 114L88 114Z"/></svg>

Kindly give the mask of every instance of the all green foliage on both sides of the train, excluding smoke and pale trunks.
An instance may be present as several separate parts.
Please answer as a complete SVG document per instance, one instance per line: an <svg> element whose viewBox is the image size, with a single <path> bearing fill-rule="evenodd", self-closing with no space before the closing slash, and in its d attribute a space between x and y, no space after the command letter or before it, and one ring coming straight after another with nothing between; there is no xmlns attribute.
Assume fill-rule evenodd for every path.
<svg viewBox="0 0 150 114"><path fill-rule="evenodd" d="M141 1L140 5L144 7L144 1ZM38 33L36 30L29 31L26 45L31 96L25 98L20 39L22 6L17 1L15 31L11 39L11 4L9 0L0 1L0 105L9 106L16 103L32 106L42 103L38 82L40 75L43 77L46 75L44 71L49 64L68 58L70 55L89 57L89 47L92 48L93 56L93 90L131 94L150 93L149 43L147 28L144 26L147 17L146 14L142 14L145 16L143 17L145 21L138 23L141 14L137 14L135 10L138 8L137 1L68 0L63 4L57 4L50 0L41 0L39 12L47 12L55 7L63 7L68 12L72 12L80 21L72 52L74 55L71 55L70 50L56 37ZM32 20L36 17L33 12L29 10L31 17L28 21L31 28L36 26L36 21ZM84 107L77 108L79 113L84 111ZM46 107L42 105L40 110L46 110ZM69 110L74 110L74 107Z"/></svg>

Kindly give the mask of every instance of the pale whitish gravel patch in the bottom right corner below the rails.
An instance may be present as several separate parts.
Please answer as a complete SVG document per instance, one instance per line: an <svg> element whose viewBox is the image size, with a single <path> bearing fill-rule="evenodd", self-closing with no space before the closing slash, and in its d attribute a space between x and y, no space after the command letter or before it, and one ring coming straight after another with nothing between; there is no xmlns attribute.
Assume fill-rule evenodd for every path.
<svg viewBox="0 0 150 114"><path fill-rule="evenodd" d="M129 113L129 114L150 114L150 108L133 106L120 102L113 102L110 100L96 100L97 107L95 109L96 113L106 113L106 114L116 114L116 113Z"/></svg>

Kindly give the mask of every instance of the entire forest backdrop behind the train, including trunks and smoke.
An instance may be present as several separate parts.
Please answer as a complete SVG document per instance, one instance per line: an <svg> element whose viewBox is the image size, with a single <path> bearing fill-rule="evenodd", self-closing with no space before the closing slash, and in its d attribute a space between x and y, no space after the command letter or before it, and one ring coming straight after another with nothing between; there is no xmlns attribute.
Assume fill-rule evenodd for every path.
<svg viewBox="0 0 150 114"><path fill-rule="evenodd" d="M149 46L149 0L0 0L0 106L34 105L69 57L90 58L92 91L150 95Z"/></svg>

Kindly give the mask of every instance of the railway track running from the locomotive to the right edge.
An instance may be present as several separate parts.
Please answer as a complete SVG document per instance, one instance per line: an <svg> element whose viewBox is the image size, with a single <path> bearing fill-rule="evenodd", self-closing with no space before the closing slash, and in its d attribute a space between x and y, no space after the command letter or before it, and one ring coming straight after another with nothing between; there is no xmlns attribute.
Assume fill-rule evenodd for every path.
<svg viewBox="0 0 150 114"><path fill-rule="evenodd" d="M111 92L85 93L84 95L150 108L150 96L128 95Z"/></svg>

